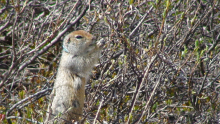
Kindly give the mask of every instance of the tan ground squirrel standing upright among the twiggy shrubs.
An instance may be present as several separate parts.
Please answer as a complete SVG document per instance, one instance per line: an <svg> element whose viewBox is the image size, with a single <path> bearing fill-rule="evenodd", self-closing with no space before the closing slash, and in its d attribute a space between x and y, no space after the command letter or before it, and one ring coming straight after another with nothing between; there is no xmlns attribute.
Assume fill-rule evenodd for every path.
<svg viewBox="0 0 220 124"><path fill-rule="evenodd" d="M83 114L85 84L98 62L104 40L78 30L64 38L63 52L51 93L51 104L45 123L79 121Z"/></svg>

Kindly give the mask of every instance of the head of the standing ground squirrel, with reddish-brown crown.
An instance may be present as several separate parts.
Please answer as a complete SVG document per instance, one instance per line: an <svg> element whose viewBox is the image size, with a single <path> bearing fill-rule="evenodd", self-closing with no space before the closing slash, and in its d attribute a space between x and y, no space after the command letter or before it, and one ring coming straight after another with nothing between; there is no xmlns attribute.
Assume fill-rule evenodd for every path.
<svg viewBox="0 0 220 124"><path fill-rule="evenodd" d="M63 49L73 55L84 55L98 52L104 45L104 40L96 41L93 35L84 31L73 31L64 38Z"/></svg>

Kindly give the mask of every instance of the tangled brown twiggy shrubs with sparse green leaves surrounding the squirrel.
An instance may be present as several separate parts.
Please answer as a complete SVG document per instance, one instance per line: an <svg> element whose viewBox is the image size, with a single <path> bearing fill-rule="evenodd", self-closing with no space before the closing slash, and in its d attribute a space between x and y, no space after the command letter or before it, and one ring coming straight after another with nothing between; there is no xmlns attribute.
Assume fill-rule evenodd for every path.
<svg viewBox="0 0 220 124"><path fill-rule="evenodd" d="M42 123L63 37L105 38L84 123L219 123L219 0L1 0L0 121Z"/></svg>

